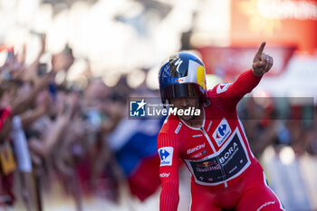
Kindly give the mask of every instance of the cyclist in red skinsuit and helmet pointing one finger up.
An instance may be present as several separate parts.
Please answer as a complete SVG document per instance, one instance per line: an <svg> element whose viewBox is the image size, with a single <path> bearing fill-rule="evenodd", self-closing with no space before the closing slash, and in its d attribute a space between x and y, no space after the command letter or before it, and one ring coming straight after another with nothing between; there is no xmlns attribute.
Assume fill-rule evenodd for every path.
<svg viewBox="0 0 317 211"><path fill-rule="evenodd" d="M195 108L200 112L187 116L171 113L159 132L160 211L178 209L179 159L191 173L192 211L284 210L267 185L236 113L238 101L273 65L273 58L263 53L264 45L255 54L251 70L211 91L207 91L205 65L194 54L176 53L161 65L163 103L168 101L173 109Z"/></svg>

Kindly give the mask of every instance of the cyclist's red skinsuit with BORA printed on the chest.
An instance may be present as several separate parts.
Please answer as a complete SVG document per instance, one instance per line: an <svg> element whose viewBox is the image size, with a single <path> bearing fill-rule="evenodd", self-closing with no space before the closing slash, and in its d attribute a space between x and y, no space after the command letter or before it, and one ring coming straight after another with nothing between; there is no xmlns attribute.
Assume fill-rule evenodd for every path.
<svg viewBox="0 0 317 211"><path fill-rule="evenodd" d="M251 152L236 104L260 82L251 70L208 91L201 128L169 115L158 137L160 211L178 209L178 162L191 172L190 210L283 210Z"/></svg>

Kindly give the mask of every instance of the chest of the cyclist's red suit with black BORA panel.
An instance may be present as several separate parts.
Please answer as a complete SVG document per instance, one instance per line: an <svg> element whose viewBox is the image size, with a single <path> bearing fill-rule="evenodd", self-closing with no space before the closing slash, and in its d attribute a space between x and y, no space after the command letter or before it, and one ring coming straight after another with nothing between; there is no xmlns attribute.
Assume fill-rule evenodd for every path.
<svg viewBox="0 0 317 211"><path fill-rule="evenodd" d="M206 120L204 127L188 129L186 137L180 158L198 184L226 183L251 164L249 147L238 120Z"/></svg>

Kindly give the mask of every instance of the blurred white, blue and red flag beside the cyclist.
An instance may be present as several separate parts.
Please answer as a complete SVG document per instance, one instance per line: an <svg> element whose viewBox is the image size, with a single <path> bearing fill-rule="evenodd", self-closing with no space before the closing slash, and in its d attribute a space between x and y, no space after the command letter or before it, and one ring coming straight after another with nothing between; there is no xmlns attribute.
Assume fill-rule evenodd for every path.
<svg viewBox="0 0 317 211"><path fill-rule="evenodd" d="M141 201L160 185L157 138L163 121L124 119L108 137L131 194Z"/></svg>

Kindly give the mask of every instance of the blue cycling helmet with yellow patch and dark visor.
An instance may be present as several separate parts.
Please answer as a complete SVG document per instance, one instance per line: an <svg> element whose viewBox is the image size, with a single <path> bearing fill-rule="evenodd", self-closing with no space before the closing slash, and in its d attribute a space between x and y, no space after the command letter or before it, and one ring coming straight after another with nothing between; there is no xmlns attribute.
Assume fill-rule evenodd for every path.
<svg viewBox="0 0 317 211"><path fill-rule="evenodd" d="M204 63L193 53L175 53L159 69L159 91L162 102L179 97L199 96L207 102Z"/></svg>

